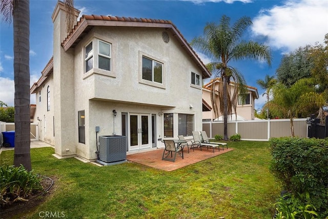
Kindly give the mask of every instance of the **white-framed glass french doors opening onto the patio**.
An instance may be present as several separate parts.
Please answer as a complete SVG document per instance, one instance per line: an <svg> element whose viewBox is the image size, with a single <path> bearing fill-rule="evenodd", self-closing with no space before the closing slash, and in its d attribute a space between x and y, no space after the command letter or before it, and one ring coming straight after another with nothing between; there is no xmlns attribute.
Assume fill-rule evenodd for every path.
<svg viewBox="0 0 328 219"><path fill-rule="evenodd" d="M151 147L151 123L149 114L130 113L130 150Z"/></svg>

